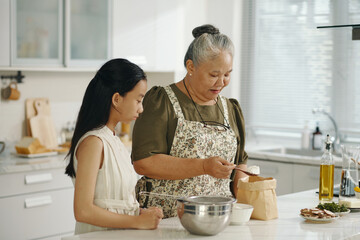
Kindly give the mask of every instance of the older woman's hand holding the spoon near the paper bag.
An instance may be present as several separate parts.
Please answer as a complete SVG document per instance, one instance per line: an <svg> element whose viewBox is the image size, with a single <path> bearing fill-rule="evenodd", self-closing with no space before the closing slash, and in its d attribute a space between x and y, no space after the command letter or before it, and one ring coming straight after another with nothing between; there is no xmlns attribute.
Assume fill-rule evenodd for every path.
<svg viewBox="0 0 360 240"><path fill-rule="evenodd" d="M235 164L226 161L221 157L206 158L203 161L204 173L216 178L229 178Z"/></svg>

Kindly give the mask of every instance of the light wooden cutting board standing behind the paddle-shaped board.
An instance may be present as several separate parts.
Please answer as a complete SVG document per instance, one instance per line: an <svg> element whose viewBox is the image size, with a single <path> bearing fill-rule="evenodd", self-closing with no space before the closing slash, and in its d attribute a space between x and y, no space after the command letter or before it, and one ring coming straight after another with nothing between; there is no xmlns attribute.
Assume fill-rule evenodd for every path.
<svg viewBox="0 0 360 240"><path fill-rule="evenodd" d="M40 101L42 112L51 117L50 102L48 98L28 98L25 101L25 115L26 115L26 133L27 136L32 136L30 128L30 118L35 117L37 112L35 109L35 101Z"/></svg>

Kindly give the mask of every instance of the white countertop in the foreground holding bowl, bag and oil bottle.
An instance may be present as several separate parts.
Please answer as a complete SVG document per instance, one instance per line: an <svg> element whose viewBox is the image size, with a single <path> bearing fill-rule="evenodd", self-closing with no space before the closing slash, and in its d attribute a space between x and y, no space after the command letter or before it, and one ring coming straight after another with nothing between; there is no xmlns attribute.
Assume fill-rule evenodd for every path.
<svg viewBox="0 0 360 240"><path fill-rule="evenodd" d="M62 240L80 239L360 239L360 212L350 213L330 223L308 222L299 216L300 209L318 204L316 190L278 197L279 218L269 221L250 220L240 226L229 225L215 236L197 236L187 232L178 218L164 219L156 230L99 231ZM336 199L334 199L337 201Z"/></svg>

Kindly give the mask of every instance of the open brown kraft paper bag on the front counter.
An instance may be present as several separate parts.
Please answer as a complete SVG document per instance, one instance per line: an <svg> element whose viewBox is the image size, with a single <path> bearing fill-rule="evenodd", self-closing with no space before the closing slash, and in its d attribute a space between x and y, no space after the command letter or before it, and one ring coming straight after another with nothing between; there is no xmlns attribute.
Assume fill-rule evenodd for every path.
<svg viewBox="0 0 360 240"><path fill-rule="evenodd" d="M276 179L250 176L238 181L237 202L254 207L253 219L270 220L278 217Z"/></svg>

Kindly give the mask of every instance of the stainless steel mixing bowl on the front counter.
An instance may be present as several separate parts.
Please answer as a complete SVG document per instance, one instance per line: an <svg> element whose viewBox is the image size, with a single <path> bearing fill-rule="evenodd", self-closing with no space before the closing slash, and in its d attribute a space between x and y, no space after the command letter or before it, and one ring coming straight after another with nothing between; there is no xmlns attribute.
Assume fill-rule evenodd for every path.
<svg viewBox="0 0 360 240"><path fill-rule="evenodd" d="M177 199L177 213L183 227L192 234L215 235L230 223L234 198L194 196Z"/></svg>

